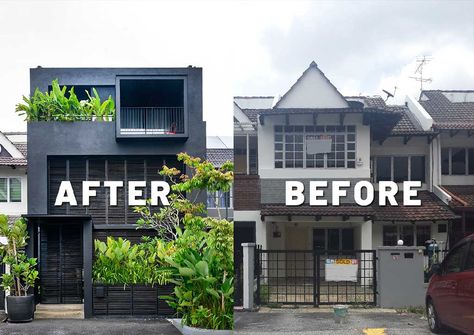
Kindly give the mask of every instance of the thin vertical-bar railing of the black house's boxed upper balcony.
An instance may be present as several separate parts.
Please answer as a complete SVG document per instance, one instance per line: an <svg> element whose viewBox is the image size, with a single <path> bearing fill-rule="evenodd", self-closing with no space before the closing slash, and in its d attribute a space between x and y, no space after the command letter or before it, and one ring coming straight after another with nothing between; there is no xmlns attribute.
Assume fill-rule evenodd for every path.
<svg viewBox="0 0 474 335"><path fill-rule="evenodd" d="M121 107L121 135L184 134L183 107Z"/></svg>

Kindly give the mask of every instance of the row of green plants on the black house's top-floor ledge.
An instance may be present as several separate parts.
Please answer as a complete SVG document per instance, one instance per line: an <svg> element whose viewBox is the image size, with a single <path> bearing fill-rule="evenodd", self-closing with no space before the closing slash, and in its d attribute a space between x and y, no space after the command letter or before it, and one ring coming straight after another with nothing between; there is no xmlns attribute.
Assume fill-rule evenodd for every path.
<svg viewBox="0 0 474 335"><path fill-rule="evenodd" d="M16 112L25 116L26 121L112 121L115 119L115 103L111 96L101 102L95 88L92 96L87 92L88 99L79 101L74 87L66 92L58 80L53 80L50 92L36 89L33 96L23 96L23 103L16 105ZM68 94L67 94L68 93Z"/></svg>

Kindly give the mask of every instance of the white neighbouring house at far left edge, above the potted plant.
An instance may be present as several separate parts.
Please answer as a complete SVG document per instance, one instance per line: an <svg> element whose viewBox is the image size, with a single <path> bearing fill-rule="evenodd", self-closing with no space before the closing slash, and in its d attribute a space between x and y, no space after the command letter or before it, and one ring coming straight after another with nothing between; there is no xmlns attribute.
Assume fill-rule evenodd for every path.
<svg viewBox="0 0 474 335"><path fill-rule="evenodd" d="M26 214L26 133L0 132L0 214Z"/></svg>

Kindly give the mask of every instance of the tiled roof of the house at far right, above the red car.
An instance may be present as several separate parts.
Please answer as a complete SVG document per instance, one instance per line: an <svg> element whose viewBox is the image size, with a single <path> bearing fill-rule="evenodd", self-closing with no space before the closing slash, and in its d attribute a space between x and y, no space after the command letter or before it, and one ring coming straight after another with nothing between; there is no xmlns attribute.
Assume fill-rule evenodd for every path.
<svg viewBox="0 0 474 335"><path fill-rule="evenodd" d="M434 127L438 129L474 129L474 102L451 102L443 94L449 92L452 91L434 90L421 93L419 102L433 118Z"/></svg>

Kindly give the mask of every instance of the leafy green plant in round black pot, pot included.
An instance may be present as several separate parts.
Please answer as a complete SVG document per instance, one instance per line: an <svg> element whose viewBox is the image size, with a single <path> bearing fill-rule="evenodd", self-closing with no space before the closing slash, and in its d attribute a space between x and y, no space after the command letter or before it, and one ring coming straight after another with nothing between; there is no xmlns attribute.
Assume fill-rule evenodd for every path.
<svg viewBox="0 0 474 335"><path fill-rule="evenodd" d="M6 215L0 215L0 236L6 239L0 244L0 256L10 271L2 275L0 286L7 296L8 319L11 322L30 322L34 317L34 295L28 290L38 278L36 258L25 253L28 233L25 219L10 224Z"/></svg>

